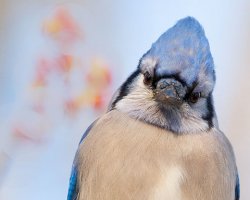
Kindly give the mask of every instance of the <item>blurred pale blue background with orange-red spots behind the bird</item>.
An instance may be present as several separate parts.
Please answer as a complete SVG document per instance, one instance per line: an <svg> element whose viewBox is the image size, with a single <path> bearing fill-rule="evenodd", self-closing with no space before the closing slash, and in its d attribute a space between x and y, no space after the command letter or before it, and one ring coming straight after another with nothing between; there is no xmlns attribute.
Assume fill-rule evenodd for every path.
<svg viewBox="0 0 250 200"><path fill-rule="evenodd" d="M66 199L84 130L188 15L210 41L220 128L236 153L241 199L250 199L247 0L0 0L0 199Z"/></svg>

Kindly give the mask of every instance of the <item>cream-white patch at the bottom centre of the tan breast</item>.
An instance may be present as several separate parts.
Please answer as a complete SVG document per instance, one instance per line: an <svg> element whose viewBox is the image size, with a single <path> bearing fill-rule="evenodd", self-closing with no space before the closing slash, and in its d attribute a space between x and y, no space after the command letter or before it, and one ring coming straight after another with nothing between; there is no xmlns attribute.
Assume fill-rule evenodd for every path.
<svg viewBox="0 0 250 200"><path fill-rule="evenodd" d="M183 171L180 167L174 166L162 171L160 181L152 193L152 200L181 200L181 183Z"/></svg>

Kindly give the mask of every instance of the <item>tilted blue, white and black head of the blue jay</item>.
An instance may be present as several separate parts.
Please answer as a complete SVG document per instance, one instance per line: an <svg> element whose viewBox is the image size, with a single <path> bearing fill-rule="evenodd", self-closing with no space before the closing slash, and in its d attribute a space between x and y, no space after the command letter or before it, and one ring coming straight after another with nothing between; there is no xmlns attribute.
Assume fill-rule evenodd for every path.
<svg viewBox="0 0 250 200"><path fill-rule="evenodd" d="M110 109L174 133L206 131L217 126L214 84L214 63L204 30L187 17L143 55Z"/></svg>

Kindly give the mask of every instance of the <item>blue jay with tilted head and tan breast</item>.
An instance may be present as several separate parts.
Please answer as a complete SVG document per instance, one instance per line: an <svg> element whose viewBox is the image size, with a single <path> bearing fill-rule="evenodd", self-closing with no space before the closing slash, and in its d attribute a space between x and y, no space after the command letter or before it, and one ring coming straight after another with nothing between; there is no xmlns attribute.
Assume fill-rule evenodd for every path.
<svg viewBox="0 0 250 200"><path fill-rule="evenodd" d="M233 147L220 130L202 25L164 32L79 143L68 200L239 200Z"/></svg>

